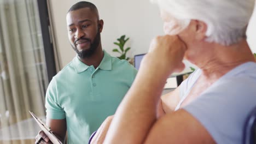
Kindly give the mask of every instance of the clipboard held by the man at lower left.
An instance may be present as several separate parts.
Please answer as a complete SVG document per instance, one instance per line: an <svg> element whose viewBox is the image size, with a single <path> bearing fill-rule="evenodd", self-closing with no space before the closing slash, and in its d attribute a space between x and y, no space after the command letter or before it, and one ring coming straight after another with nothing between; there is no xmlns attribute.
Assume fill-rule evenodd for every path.
<svg viewBox="0 0 256 144"><path fill-rule="evenodd" d="M34 115L33 112L29 112L34 118L34 120L37 122L39 127L44 131L45 135L48 136L51 142L53 142L53 144L62 144L62 142L59 139L57 139L57 137L53 134L53 131L51 131L51 129L46 124L44 124L41 119L37 118L37 116Z"/></svg>

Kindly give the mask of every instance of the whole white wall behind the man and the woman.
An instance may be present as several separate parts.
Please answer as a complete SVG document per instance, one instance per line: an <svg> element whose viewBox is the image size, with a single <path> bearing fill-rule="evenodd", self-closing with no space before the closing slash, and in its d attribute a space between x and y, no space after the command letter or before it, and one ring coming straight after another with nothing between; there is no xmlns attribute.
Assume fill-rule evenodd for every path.
<svg viewBox="0 0 256 144"><path fill-rule="evenodd" d="M79 1L49 1L61 68L75 56L67 36L66 14L76 2ZM112 49L116 47L113 42L123 34L130 37L126 45L131 47L128 53L130 57L146 53L150 40L156 35L164 34L159 8L157 5L151 4L149 0L90 0L90 2L96 5L100 18L104 20L104 28L101 33L102 46L110 55L117 56L117 53L112 52ZM255 26L256 14L254 13L248 26L248 42L253 52L256 52Z"/></svg>

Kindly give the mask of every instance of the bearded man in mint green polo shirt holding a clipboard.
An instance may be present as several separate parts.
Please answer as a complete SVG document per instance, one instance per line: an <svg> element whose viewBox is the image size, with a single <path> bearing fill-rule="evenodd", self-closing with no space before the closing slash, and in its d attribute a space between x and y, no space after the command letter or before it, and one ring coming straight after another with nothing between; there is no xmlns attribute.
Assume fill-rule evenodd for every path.
<svg viewBox="0 0 256 144"><path fill-rule="evenodd" d="M46 92L46 124L64 142L88 143L90 135L113 115L137 70L102 50L103 20L90 2L74 4L67 13L68 37L77 52L51 80ZM36 143L43 137L42 131Z"/></svg>

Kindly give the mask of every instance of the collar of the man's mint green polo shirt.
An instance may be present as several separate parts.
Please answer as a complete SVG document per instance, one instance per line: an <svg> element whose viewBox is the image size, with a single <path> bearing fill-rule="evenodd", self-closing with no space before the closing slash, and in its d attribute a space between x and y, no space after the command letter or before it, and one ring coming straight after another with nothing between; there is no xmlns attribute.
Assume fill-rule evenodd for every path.
<svg viewBox="0 0 256 144"><path fill-rule="evenodd" d="M105 50L103 50L103 52L104 52L104 56L98 68L102 70L111 70L112 69L111 56ZM90 67L84 64L82 61L80 61L80 59L78 58L78 55L74 57L73 65L76 73L81 73Z"/></svg>

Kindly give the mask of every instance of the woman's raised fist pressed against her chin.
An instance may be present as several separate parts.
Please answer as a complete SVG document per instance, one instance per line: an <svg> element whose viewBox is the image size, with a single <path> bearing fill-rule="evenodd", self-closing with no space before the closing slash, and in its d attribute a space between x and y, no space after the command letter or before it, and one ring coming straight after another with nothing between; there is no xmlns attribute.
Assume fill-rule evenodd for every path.
<svg viewBox="0 0 256 144"><path fill-rule="evenodd" d="M182 71L185 68L182 60L186 49L184 42L176 35L156 37L152 40L140 69L157 70L164 75Z"/></svg>

